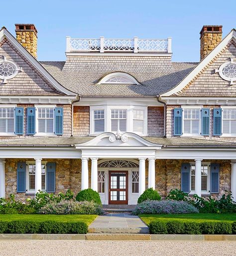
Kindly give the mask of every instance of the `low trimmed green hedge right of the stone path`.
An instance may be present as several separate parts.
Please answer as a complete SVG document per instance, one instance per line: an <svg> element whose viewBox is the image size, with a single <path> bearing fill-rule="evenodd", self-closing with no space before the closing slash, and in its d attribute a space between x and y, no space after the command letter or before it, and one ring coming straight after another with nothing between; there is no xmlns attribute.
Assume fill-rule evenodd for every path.
<svg viewBox="0 0 236 256"><path fill-rule="evenodd" d="M236 222L152 221L149 230L151 234L236 235Z"/></svg>

